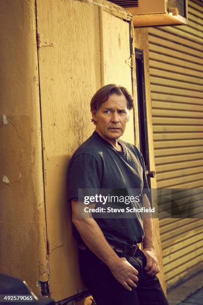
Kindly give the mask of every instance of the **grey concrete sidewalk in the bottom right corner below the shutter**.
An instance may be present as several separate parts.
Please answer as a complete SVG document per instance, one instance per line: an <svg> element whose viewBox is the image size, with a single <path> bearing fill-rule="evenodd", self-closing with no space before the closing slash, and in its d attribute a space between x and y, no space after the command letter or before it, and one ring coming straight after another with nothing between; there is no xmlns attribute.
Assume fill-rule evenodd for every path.
<svg viewBox="0 0 203 305"><path fill-rule="evenodd" d="M203 272L167 294L169 305L203 305Z"/></svg>

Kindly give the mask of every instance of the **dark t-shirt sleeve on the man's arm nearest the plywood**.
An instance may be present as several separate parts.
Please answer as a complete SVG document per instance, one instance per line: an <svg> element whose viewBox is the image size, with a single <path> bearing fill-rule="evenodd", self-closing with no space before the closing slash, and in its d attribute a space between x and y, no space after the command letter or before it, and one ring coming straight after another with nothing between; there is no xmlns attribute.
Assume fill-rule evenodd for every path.
<svg viewBox="0 0 203 305"><path fill-rule="evenodd" d="M79 188L100 188L101 168L89 153L72 157L68 167L68 201L78 198Z"/></svg>

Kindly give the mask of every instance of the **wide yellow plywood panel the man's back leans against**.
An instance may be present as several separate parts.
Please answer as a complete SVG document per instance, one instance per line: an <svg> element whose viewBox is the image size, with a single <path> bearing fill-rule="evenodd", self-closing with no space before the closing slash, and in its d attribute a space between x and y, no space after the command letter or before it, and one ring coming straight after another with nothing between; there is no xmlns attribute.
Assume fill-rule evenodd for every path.
<svg viewBox="0 0 203 305"><path fill-rule="evenodd" d="M44 0L37 1L37 13L49 284L58 301L84 290L65 197L66 170L94 130L90 99L101 87L99 7Z"/></svg>

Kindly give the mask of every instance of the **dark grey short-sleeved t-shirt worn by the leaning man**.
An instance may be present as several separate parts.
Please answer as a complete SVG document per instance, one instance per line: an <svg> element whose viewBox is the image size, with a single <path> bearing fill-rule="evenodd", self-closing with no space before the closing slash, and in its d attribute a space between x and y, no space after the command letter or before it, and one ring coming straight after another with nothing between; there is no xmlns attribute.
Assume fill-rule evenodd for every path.
<svg viewBox="0 0 203 305"><path fill-rule="evenodd" d="M118 140L123 151L116 151L97 132L73 154L68 168L68 200L78 198L79 188L149 188L142 154L129 143ZM141 200L142 203L142 200ZM132 245L144 236L142 218L95 218L105 238L118 244Z"/></svg>

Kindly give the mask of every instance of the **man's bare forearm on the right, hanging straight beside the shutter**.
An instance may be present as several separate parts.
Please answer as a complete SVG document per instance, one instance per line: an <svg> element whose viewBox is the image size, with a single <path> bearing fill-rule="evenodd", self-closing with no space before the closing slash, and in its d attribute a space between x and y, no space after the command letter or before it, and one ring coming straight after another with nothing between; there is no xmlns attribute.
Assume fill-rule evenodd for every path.
<svg viewBox="0 0 203 305"><path fill-rule="evenodd" d="M147 198L147 195L143 196L143 206L145 208L150 207L150 202L149 199ZM143 217L143 228L144 228L143 248L154 249L153 220L149 214L144 215Z"/></svg>

